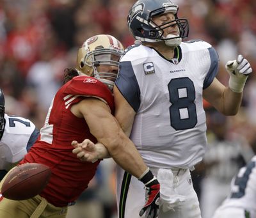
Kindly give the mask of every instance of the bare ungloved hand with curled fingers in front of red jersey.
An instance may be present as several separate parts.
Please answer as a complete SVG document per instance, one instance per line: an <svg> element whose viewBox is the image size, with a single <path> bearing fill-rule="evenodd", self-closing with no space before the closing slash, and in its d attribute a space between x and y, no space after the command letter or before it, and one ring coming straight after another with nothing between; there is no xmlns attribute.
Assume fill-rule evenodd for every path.
<svg viewBox="0 0 256 218"><path fill-rule="evenodd" d="M71 145L74 147L72 153L82 161L96 162L98 160L97 147L89 139L84 139L82 143L72 141Z"/></svg>

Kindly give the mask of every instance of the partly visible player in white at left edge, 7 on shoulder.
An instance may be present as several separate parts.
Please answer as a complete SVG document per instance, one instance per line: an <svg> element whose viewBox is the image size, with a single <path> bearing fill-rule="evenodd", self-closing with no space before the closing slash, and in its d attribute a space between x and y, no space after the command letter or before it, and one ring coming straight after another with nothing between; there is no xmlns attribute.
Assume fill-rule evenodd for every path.
<svg viewBox="0 0 256 218"><path fill-rule="evenodd" d="M39 135L30 120L4 112L4 93L0 89L0 180L26 155Z"/></svg>

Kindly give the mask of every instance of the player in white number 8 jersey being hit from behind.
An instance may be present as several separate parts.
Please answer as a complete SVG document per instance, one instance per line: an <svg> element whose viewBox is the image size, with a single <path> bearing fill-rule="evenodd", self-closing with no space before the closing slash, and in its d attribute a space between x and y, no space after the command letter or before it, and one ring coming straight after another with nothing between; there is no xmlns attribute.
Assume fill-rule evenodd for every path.
<svg viewBox="0 0 256 218"><path fill-rule="evenodd" d="M207 148L203 97L221 113L236 114L252 68L239 55L226 65L228 86L221 84L215 49L200 40L182 42L189 25L178 8L170 0L139 0L131 7L127 24L136 41L120 59L115 117L161 183L159 217L200 218L190 170ZM142 185L118 167L119 218L138 217Z"/></svg>

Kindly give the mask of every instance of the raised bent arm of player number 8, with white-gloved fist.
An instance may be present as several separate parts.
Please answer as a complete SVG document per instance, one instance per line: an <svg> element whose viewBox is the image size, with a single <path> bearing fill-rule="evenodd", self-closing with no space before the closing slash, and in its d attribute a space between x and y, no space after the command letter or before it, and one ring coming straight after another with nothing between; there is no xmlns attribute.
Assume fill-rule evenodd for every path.
<svg viewBox="0 0 256 218"><path fill-rule="evenodd" d="M230 75L228 87L216 78L204 90L204 98L225 115L235 115L241 105L246 79L252 73L250 63L239 54L234 61L228 61L226 69Z"/></svg>

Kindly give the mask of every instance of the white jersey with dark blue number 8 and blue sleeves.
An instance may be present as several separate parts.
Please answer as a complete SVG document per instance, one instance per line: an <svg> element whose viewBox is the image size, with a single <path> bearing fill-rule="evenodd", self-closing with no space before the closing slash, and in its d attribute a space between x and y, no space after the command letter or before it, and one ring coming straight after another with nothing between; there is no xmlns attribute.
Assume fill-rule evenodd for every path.
<svg viewBox="0 0 256 218"><path fill-rule="evenodd" d="M187 169L202 160L202 92L217 72L218 54L203 41L181 43L172 60L143 45L124 54L116 86L136 111L131 139L148 166Z"/></svg>

